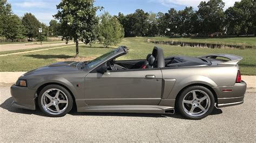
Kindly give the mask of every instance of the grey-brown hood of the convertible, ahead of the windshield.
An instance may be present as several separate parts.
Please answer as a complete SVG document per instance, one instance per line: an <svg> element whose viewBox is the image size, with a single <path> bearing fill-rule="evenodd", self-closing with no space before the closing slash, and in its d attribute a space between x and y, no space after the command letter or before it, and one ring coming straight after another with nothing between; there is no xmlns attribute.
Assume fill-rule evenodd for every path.
<svg viewBox="0 0 256 143"><path fill-rule="evenodd" d="M67 61L67 62L57 62L49 66L40 67L25 73L23 76L29 75L46 75L46 74L65 74L65 73L75 73L80 71L77 68L79 62Z"/></svg>

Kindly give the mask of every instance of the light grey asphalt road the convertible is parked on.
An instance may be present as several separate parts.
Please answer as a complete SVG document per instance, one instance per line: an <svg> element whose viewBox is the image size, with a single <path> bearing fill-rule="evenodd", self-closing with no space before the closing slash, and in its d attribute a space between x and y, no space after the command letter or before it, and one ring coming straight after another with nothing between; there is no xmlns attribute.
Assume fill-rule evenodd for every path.
<svg viewBox="0 0 256 143"><path fill-rule="evenodd" d="M222 109L201 120L179 114L77 113L44 117L40 110L11 107L9 88L0 88L0 142L11 141L231 141L255 142L256 94L244 104Z"/></svg>

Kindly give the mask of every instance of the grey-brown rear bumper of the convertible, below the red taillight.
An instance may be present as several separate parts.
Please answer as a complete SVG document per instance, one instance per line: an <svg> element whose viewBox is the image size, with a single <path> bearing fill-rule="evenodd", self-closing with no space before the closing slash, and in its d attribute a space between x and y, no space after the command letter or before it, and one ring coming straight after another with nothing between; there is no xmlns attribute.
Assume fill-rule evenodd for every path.
<svg viewBox="0 0 256 143"><path fill-rule="evenodd" d="M235 83L234 86L213 88L218 97L218 108L244 103L246 83Z"/></svg>

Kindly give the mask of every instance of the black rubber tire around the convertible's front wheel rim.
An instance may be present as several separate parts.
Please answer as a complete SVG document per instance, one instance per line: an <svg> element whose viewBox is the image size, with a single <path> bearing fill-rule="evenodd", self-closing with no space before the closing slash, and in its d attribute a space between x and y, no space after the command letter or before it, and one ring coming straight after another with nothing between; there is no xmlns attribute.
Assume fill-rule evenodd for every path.
<svg viewBox="0 0 256 143"><path fill-rule="evenodd" d="M46 97L44 97L43 96L43 94L46 92L46 91L49 91L50 89L56 89L56 92L57 91L59 91L59 96L62 96L62 97L60 97L60 98L63 98L64 100L63 101L65 101L65 99L66 99L66 103L68 103L68 105L66 105L66 103L57 103L57 105L59 104L59 105L62 105L62 106L64 106L64 108L63 109L65 109L65 110L63 110L62 112L57 112L57 108L55 108L55 106L56 105L51 105L51 108L52 108L52 110L54 110L54 108L56 109L56 112L57 113L54 113L54 112L51 112L50 110L46 110L45 109L45 106L42 104L42 102L44 101L44 99L42 99L42 98L46 98ZM52 92L52 94L53 94L53 92L54 92L54 90L53 91L50 91L50 92ZM50 92L49 92L49 94L50 94ZM52 95L51 95L52 96ZM59 97L58 96L58 97ZM54 96L52 97L52 98L54 98ZM59 99L59 98L58 98ZM56 99L56 100L58 100L58 99ZM50 103L52 104L53 102L52 102L52 100L51 99L46 99L46 100L48 100L48 101L50 101ZM42 101L42 102L41 102ZM63 105L64 104L64 105ZM58 106L59 106L58 105ZM64 87L62 87L62 86L60 86L60 85L56 85L56 84L51 84L51 85L47 85L46 87L44 87L41 91L40 91L40 93L39 93L39 95L38 95L38 106L39 106L39 108L41 109L41 111L43 112L43 113L45 113L47 116L49 116L49 117L63 117L63 116L65 116L67 113L69 113L70 112L70 110L72 109L72 106L73 106L73 99L72 99L72 96L71 96L71 94L70 94L70 92L68 91L68 90L66 90ZM54 107L52 107L52 106L54 106ZM60 110L61 108L59 108L59 110ZM61 111L61 110L60 110Z"/></svg>

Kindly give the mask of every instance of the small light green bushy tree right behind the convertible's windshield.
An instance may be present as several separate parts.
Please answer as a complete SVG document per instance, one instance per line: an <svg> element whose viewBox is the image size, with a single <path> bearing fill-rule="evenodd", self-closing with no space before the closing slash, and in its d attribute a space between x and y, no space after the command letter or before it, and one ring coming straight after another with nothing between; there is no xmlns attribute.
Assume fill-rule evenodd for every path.
<svg viewBox="0 0 256 143"><path fill-rule="evenodd" d="M107 47L116 45L124 38L124 28L116 17L112 17L109 12L104 12L100 16L100 42Z"/></svg>

